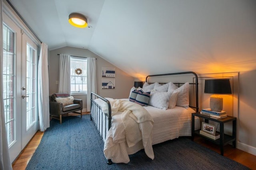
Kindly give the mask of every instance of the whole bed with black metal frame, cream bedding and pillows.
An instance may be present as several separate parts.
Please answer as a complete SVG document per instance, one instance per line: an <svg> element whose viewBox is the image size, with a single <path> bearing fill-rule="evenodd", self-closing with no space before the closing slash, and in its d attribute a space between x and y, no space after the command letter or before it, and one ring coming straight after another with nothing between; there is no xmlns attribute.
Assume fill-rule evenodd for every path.
<svg viewBox="0 0 256 170"><path fill-rule="evenodd" d="M169 79L169 77L174 79ZM198 111L198 76L196 73L179 72L150 75L146 77L144 85L145 87L140 89L134 90L132 88L129 99L114 100L91 93L90 119L94 122L101 139L104 141L104 154L108 164L112 164L112 162L128 163L130 161L128 155L141 149L145 150L148 157L154 159L152 145L181 136L191 136L191 113ZM152 89L152 87L154 88ZM168 87L167 92L166 87ZM136 104L137 100L131 100L132 94L140 90L151 92L150 105L142 107ZM169 91L171 93L168 93ZM171 95L168 96L167 94ZM174 106L167 108L162 105L166 103L164 99L166 95L169 100L168 107ZM171 100L172 98L173 100ZM162 100L164 102L159 102ZM118 106L118 109L115 106ZM138 125L132 124L130 127L126 125L126 120L128 121L130 117L124 118L124 115L129 115L130 112L127 113L127 110L120 108L128 106L132 107L128 111L132 110L134 115L137 112L138 114L147 112L147 121L139 123L137 121ZM199 119L195 120L195 128L200 129ZM134 131L140 131L140 133L134 133ZM135 136L130 138L130 134L135 134ZM141 134L141 137L136 136L137 134ZM132 139L134 141L131 141Z"/></svg>

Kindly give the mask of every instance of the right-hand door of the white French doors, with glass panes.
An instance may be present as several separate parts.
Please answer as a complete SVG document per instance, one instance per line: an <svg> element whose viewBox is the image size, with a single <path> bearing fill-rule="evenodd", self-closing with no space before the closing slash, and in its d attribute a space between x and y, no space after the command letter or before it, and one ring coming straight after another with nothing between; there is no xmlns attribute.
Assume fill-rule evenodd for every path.
<svg viewBox="0 0 256 170"><path fill-rule="evenodd" d="M26 34L22 35L22 149L38 131L37 48Z"/></svg>

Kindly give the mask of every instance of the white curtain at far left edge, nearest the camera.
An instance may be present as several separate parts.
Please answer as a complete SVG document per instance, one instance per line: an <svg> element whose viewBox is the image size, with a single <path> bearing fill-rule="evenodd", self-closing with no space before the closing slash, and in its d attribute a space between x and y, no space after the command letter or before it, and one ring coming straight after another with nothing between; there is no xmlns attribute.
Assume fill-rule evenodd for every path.
<svg viewBox="0 0 256 170"><path fill-rule="evenodd" d="M0 0L0 170L12 170L4 118L2 12L2 0Z"/></svg>

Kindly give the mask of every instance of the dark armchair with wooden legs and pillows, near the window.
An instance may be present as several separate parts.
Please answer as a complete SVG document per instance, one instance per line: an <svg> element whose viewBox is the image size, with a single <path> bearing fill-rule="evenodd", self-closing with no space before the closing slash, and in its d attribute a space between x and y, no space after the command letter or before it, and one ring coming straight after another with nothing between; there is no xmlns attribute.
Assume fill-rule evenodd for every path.
<svg viewBox="0 0 256 170"><path fill-rule="evenodd" d="M52 96L49 96L49 103L50 103L50 116L54 119L60 120L60 124L62 123L62 115L67 113L78 113L81 114L82 118L82 108L83 103L80 99L74 99L70 101L70 95L68 93L54 93ZM68 102L57 102L59 98L66 98ZM80 112L76 112L80 110Z"/></svg>

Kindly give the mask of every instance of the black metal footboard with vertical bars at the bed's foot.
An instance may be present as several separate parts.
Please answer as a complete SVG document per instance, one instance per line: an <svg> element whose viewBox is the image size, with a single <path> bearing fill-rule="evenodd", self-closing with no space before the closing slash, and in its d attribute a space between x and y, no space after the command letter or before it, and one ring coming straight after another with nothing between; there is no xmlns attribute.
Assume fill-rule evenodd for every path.
<svg viewBox="0 0 256 170"><path fill-rule="evenodd" d="M104 104L106 104L106 106L108 106L108 113L103 113L102 106L100 106L94 100L96 98L105 102ZM103 142L105 141L106 134L108 133L108 130L111 127L111 119L112 119L112 117L111 117L110 102L107 99L99 96L98 94L91 92L90 120L92 120L94 122Z"/></svg>

